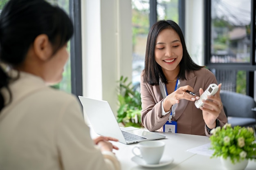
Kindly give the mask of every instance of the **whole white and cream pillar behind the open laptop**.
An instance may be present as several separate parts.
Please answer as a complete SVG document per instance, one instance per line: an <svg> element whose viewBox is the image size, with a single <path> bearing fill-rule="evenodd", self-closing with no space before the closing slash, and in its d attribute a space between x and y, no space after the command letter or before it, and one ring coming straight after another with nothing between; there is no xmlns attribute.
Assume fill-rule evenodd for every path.
<svg viewBox="0 0 256 170"><path fill-rule="evenodd" d="M130 0L81 0L83 96L103 99L117 111L117 81L131 79Z"/></svg>

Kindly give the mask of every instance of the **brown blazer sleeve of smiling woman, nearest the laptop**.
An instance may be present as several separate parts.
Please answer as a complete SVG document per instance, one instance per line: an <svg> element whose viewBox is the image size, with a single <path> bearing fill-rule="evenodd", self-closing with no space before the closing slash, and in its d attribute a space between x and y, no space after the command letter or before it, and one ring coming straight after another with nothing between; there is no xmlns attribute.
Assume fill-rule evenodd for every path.
<svg viewBox="0 0 256 170"><path fill-rule="evenodd" d="M158 86L151 86L143 82L143 74L141 74L141 123L149 131L160 129L166 121L170 113L162 116L161 92ZM155 93L157 92L157 93Z"/></svg>

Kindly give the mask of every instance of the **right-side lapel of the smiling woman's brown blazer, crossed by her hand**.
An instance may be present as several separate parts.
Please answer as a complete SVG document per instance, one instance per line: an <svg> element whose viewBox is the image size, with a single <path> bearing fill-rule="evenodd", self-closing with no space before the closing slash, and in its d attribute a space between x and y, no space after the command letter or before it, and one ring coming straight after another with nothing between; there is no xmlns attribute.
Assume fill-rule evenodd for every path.
<svg viewBox="0 0 256 170"><path fill-rule="evenodd" d="M195 80L197 77L195 76L194 72L193 71L189 73L186 72L185 77L186 77L186 80L180 81L180 87L189 85L194 88ZM179 104L177 104L177 107L175 109L175 115L174 115L175 120L179 119L179 117L184 113L184 110L186 109L186 106L188 105L188 103L189 103L189 100L185 100L185 99L180 100Z"/></svg>

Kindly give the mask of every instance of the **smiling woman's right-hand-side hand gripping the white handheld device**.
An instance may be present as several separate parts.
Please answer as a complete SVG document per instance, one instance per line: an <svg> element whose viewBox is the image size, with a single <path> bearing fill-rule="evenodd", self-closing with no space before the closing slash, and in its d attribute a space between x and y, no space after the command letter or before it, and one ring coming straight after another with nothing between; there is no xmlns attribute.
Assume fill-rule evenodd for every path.
<svg viewBox="0 0 256 170"><path fill-rule="evenodd" d="M220 112L223 108L220 99L221 84L219 84L218 87L218 92L213 96L208 96L207 98L209 100L203 100L204 105L200 107L203 112L204 122L210 129L216 128L216 119L220 115ZM204 93L202 88L200 88L199 93L200 95Z"/></svg>

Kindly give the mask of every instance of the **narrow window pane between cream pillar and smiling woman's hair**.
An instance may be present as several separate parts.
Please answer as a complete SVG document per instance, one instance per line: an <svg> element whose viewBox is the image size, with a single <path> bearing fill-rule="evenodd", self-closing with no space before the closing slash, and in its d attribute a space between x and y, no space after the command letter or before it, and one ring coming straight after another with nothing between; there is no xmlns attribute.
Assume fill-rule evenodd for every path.
<svg viewBox="0 0 256 170"><path fill-rule="evenodd" d="M149 31L149 0L132 0L132 83L140 82Z"/></svg>

